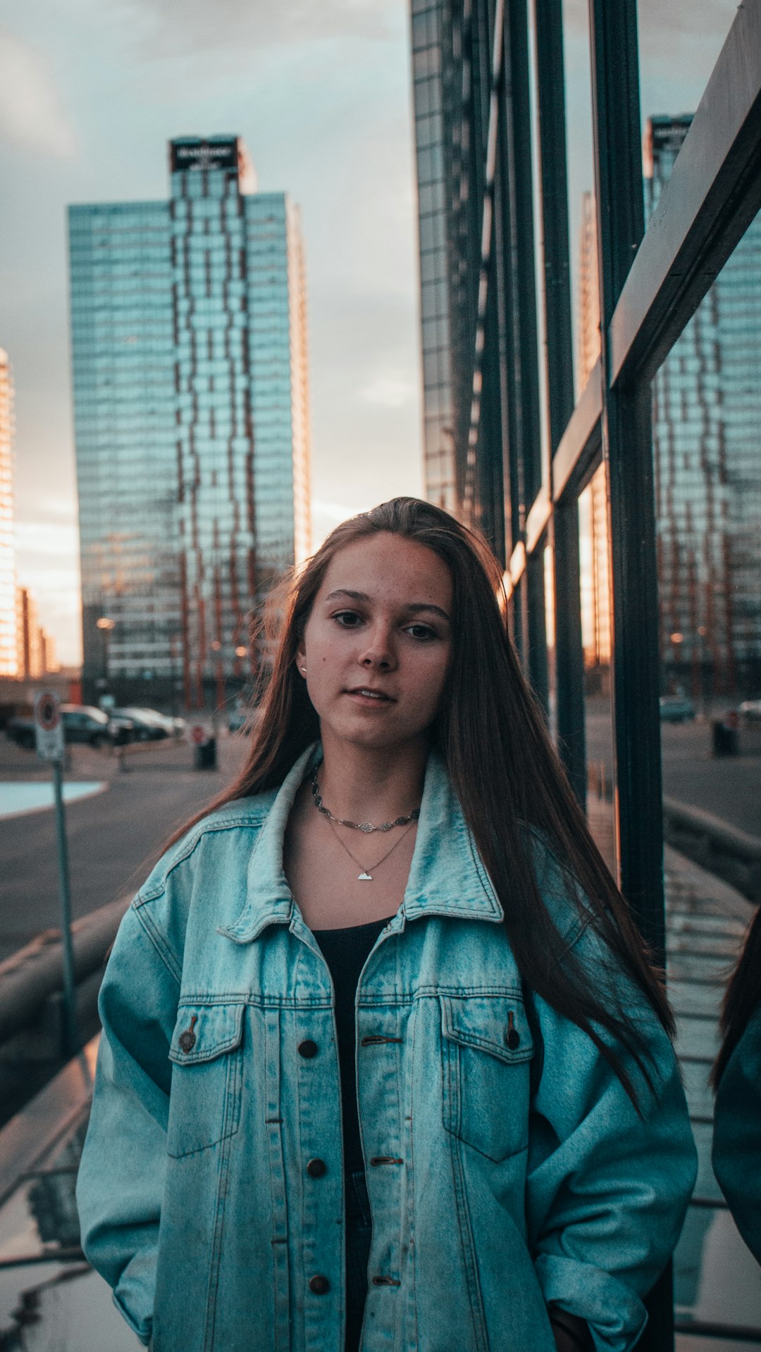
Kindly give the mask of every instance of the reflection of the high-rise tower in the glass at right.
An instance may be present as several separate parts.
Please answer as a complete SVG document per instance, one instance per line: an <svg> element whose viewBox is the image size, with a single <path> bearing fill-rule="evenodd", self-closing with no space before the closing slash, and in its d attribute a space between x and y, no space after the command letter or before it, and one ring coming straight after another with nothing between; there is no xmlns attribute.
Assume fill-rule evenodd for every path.
<svg viewBox="0 0 761 1352"><path fill-rule="evenodd" d="M650 118L646 212L692 122ZM653 383L661 657L696 700L761 687L761 218Z"/></svg>

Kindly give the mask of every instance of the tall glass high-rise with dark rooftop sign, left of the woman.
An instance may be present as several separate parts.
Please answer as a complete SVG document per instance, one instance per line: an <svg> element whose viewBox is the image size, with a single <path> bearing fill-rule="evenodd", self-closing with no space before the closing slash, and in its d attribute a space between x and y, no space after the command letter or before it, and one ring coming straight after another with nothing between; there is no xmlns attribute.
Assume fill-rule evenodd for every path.
<svg viewBox="0 0 761 1352"><path fill-rule="evenodd" d="M310 548L305 265L238 137L172 141L169 180L69 208L83 679L202 707Z"/></svg>

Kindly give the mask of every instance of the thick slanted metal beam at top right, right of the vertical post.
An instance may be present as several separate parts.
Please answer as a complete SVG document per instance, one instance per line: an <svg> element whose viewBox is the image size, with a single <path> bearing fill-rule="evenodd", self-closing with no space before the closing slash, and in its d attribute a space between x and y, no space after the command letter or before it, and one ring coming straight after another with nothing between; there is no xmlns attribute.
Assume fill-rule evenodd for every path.
<svg viewBox="0 0 761 1352"><path fill-rule="evenodd" d="M611 319L611 384L651 379L761 210L761 0L741 4Z"/></svg>

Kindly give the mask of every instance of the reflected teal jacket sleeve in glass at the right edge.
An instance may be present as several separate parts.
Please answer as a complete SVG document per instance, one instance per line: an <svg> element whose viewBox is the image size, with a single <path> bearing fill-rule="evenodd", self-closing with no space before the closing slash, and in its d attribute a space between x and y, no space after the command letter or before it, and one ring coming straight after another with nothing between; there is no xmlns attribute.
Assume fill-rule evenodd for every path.
<svg viewBox="0 0 761 1352"><path fill-rule="evenodd" d="M712 1163L735 1225L761 1263L761 1009L719 1083Z"/></svg>

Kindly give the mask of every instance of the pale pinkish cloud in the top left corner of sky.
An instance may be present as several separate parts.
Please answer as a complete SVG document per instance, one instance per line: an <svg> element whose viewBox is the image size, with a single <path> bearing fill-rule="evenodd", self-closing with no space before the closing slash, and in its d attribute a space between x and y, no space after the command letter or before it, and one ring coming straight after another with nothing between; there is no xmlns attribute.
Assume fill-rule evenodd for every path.
<svg viewBox="0 0 761 1352"><path fill-rule="evenodd" d="M50 74L34 47L0 28L0 141L68 160L74 134Z"/></svg>

